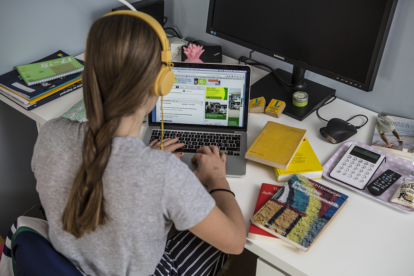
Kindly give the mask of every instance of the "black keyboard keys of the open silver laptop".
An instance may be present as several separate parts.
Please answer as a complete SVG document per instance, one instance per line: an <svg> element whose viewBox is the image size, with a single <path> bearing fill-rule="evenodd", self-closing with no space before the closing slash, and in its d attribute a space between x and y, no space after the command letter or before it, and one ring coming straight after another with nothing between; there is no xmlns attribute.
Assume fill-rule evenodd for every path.
<svg viewBox="0 0 414 276"><path fill-rule="evenodd" d="M164 130L163 139L175 137L178 137L178 143L185 144L177 152L195 153L202 146L216 145L220 151L226 151L227 155L240 155L240 134ZM161 129L154 129L149 143L160 139Z"/></svg>

